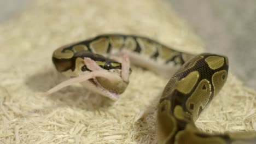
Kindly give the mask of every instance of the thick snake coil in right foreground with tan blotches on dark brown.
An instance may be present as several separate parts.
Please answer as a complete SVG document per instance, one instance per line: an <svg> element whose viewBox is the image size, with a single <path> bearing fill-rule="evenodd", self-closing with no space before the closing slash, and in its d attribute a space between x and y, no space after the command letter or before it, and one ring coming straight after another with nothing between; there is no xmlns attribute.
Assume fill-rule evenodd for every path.
<svg viewBox="0 0 256 144"><path fill-rule="evenodd" d="M255 143L256 134L205 134L194 121L223 87L228 58L203 53L185 63L167 83L158 106L158 143Z"/></svg>

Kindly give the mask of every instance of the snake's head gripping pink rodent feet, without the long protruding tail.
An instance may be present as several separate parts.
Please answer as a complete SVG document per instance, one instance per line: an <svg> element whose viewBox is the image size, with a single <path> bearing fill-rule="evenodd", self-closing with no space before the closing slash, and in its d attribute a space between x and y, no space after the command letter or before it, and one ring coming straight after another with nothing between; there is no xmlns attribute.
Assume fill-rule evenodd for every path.
<svg viewBox="0 0 256 144"><path fill-rule="evenodd" d="M91 58L84 58L84 63L91 70L89 74L97 73L89 81L82 82L84 87L113 100L117 100L119 95L125 91L131 74L129 63L125 60L119 63L112 59L95 61Z"/></svg>

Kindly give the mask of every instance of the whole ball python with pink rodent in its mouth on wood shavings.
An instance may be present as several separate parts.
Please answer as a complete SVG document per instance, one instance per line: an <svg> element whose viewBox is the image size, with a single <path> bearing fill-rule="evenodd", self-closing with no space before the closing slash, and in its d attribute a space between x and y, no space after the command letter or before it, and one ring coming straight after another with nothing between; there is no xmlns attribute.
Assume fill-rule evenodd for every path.
<svg viewBox="0 0 256 144"><path fill-rule="evenodd" d="M228 77L227 57L179 52L146 37L105 34L56 49L53 63L57 71L71 79L45 94L79 82L91 91L117 100L129 83L130 61L171 77L158 104L159 144L256 143L255 133L207 134L194 124Z"/></svg>

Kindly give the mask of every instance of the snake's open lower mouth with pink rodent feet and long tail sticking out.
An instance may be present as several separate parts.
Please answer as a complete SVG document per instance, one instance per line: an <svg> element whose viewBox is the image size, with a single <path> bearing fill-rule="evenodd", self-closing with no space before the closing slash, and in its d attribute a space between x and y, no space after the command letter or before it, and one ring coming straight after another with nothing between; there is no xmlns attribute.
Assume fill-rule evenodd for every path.
<svg viewBox="0 0 256 144"><path fill-rule="evenodd" d="M128 55L123 55L123 65L120 71L103 69L94 60L87 57L84 58L84 64L90 71L59 83L59 85L49 89L43 95L49 95L73 83L80 83L90 91L104 95L112 100L117 100L119 95L125 91L129 83L130 62Z"/></svg>

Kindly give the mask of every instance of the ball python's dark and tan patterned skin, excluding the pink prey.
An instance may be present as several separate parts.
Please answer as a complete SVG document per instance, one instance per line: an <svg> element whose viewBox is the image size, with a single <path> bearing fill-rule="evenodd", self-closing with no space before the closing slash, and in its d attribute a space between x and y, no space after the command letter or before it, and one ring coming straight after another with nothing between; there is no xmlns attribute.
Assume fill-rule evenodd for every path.
<svg viewBox="0 0 256 144"><path fill-rule="evenodd" d="M58 71L71 77L90 71L86 68L85 57L103 69L121 70L121 63L108 55L122 50L146 56L158 64L181 66L167 83L158 105L156 127L159 144L256 143L255 133L211 135L195 127L194 121L227 79L229 64L225 56L211 53L194 56L145 37L107 34L60 47L54 51L53 62ZM117 93L125 89L109 88L112 85L105 79L100 83Z"/></svg>

